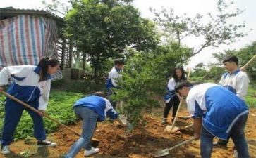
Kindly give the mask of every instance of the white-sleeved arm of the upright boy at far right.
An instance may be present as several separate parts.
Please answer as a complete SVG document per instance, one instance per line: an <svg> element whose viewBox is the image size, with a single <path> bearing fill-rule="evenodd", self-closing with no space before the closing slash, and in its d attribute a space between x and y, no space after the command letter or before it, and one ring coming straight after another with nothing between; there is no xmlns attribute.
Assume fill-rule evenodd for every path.
<svg viewBox="0 0 256 158"><path fill-rule="evenodd" d="M247 74L244 72L239 75L236 79L236 96L244 100L244 97L247 95L249 88L249 79Z"/></svg>

